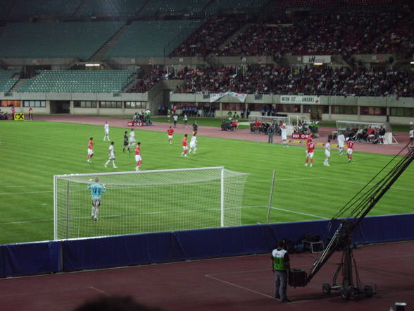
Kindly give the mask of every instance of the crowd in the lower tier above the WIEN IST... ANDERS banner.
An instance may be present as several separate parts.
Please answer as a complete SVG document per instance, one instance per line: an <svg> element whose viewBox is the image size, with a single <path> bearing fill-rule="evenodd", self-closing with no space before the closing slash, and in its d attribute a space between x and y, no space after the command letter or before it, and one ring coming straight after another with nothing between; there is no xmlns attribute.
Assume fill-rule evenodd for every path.
<svg viewBox="0 0 414 311"><path fill-rule="evenodd" d="M291 68L248 67L236 74L232 67L180 71L186 80L179 92L239 92L248 94L305 94L337 96L412 96L413 73L385 71L383 68Z"/></svg>

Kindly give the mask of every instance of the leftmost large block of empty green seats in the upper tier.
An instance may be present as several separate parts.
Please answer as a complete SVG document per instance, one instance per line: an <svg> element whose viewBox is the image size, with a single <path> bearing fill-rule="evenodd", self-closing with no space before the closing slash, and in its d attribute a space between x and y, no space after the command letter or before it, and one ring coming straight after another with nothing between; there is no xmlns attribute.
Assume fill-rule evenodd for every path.
<svg viewBox="0 0 414 311"><path fill-rule="evenodd" d="M87 61L124 24L125 22L8 23L0 37L0 57L77 57Z"/></svg>

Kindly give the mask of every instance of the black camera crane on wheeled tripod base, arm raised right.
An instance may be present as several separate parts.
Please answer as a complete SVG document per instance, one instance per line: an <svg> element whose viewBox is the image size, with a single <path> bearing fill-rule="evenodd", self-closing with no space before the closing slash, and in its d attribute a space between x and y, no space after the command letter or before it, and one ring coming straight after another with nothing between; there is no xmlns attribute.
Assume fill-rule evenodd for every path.
<svg viewBox="0 0 414 311"><path fill-rule="evenodd" d="M365 188L368 188L368 185L382 172L384 169L391 164L391 162L399 156L404 150L408 148L408 153L401 158L401 160L394 166L394 168L387 173L387 176L382 178L381 181L376 183L372 188L363 191ZM324 283L322 285L322 291L326 295L329 295L331 290L337 290L341 292L341 297L344 300L353 299L355 295L364 295L365 297L371 298L372 295L375 295L375 291L372 286L365 286L362 288L361 282L358 276L358 270L356 269L356 262L353 257L352 252L352 231L358 227L361 221L365 216L370 212L370 210L375 207L378 201L384 196L385 193L391 188L391 185L401 176L403 171L405 171L410 163L414 160L414 148L406 147L397 154L396 157L391 159L389 163L384 166L384 168L377 173L377 175L372 178L370 183L365 185L346 205L335 215L327 228L327 233L334 231L334 223L339 222L339 226L334 231L334 235L327 243L327 247L321 253L318 260L315 260L313 267L308 272L308 274L303 278L303 282L296 284L296 286L306 286L307 283L313 279L313 276L318 273L322 266L330 259L330 257L339 249L343 250L341 263L337 269L337 272L334 274L332 280L332 285L330 283ZM344 212L351 210L351 213L348 217L344 219L339 219ZM353 269L354 268L354 269ZM353 270L355 270L355 281ZM337 278L341 272L341 283L337 283ZM303 272L306 273L306 272Z"/></svg>

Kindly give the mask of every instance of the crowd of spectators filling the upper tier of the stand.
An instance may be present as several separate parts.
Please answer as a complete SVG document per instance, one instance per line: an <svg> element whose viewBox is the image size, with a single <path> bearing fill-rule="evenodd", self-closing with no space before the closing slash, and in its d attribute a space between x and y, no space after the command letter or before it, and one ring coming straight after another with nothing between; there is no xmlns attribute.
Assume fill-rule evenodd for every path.
<svg viewBox="0 0 414 311"><path fill-rule="evenodd" d="M208 20L170 56L413 54L410 11L344 12L300 18L263 17L218 49L245 20Z"/></svg>

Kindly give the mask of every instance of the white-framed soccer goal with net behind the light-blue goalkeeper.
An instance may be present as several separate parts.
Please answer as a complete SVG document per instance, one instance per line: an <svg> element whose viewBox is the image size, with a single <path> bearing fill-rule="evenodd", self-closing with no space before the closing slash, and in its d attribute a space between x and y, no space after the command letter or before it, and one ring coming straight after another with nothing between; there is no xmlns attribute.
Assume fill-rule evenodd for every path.
<svg viewBox="0 0 414 311"><path fill-rule="evenodd" d="M54 238L240 226L248 176L224 167L54 176ZM97 221L95 178L106 186Z"/></svg>

